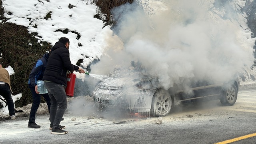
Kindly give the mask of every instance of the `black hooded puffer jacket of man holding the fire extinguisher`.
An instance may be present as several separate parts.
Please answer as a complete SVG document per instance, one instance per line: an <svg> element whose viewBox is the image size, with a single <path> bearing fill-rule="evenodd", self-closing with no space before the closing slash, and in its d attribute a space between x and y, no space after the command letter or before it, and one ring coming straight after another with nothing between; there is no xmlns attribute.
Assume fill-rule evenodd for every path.
<svg viewBox="0 0 256 144"><path fill-rule="evenodd" d="M73 72L79 67L71 64L69 51L61 42L56 42L51 50L43 80L67 86L67 70Z"/></svg>

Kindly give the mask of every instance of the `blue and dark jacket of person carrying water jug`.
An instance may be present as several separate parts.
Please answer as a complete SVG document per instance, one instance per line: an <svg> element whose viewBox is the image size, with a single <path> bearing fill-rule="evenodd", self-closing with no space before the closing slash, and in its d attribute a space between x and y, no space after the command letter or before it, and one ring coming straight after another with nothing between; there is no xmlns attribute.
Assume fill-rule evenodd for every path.
<svg viewBox="0 0 256 144"><path fill-rule="evenodd" d="M43 80L44 70L46 68L46 64L49 58L49 53L43 55L42 58L36 61L36 64L32 68L29 77L28 77L28 84L32 86L36 86L37 80Z"/></svg>

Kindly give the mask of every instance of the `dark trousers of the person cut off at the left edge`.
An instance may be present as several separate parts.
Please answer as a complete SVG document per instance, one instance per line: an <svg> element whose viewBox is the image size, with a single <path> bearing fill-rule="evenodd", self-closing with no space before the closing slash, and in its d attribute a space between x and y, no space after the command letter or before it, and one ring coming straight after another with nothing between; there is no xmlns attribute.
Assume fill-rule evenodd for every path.
<svg viewBox="0 0 256 144"><path fill-rule="evenodd" d="M9 84L0 84L0 95L6 100L10 116L15 115L14 102Z"/></svg>

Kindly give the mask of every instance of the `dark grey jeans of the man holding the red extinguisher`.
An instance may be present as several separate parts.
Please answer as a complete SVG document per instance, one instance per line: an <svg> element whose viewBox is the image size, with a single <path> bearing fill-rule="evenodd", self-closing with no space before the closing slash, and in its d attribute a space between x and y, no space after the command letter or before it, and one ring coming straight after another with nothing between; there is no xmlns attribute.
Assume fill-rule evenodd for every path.
<svg viewBox="0 0 256 144"><path fill-rule="evenodd" d="M52 129L59 128L60 121L68 107L65 87L55 82L45 82L48 91L51 108L50 108L50 126Z"/></svg>

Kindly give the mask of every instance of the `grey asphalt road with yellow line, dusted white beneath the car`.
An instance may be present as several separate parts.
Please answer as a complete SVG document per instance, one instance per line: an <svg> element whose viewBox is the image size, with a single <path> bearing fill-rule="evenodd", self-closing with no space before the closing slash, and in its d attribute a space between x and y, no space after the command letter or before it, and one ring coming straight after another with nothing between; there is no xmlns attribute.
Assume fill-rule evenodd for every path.
<svg viewBox="0 0 256 144"><path fill-rule="evenodd" d="M81 110L90 110L83 106ZM28 117L1 121L0 144L255 144L256 89L240 90L234 106L215 100L172 108L162 121L117 111L68 110L61 122L65 135L50 134L48 114L37 116L36 122L41 128L27 128Z"/></svg>

